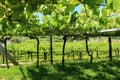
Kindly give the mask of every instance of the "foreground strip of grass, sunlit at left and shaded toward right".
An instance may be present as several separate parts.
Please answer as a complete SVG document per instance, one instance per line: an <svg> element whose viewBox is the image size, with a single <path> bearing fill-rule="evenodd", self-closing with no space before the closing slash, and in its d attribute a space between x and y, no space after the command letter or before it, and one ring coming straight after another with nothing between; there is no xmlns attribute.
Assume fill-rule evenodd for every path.
<svg viewBox="0 0 120 80"><path fill-rule="evenodd" d="M120 74L120 61L96 61L90 64L84 62L66 62L62 67L60 63L49 65L35 64L0 68L0 78L4 80L118 80Z"/></svg>

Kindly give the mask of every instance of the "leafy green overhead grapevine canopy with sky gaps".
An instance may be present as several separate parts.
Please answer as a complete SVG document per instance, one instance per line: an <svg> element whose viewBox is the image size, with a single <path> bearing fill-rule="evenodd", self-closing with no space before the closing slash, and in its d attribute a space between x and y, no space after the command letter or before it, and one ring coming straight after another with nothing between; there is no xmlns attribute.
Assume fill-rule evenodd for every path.
<svg viewBox="0 0 120 80"><path fill-rule="evenodd" d="M82 34L117 28L119 4L120 0L0 0L0 35ZM78 5L80 12L75 12ZM42 23L35 12L43 14Z"/></svg>

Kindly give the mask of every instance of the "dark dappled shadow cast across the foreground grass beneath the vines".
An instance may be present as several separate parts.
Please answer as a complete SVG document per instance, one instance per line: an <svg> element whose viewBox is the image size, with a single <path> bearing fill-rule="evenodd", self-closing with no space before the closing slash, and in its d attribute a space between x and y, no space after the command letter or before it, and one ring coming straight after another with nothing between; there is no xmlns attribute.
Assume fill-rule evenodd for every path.
<svg viewBox="0 0 120 80"><path fill-rule="evenodd" d="M27 74L31 80L119 80L120 61L100 61L40 65L27 67Z"/></svg>

